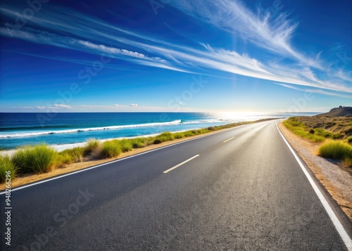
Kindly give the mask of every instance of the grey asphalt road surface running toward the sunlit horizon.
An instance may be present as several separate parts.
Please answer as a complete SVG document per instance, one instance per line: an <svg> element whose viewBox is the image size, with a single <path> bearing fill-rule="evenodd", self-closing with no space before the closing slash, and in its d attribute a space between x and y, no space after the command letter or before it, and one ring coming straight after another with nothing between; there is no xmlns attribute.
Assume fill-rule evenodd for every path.
<svg viewBox="0 0 352 251"><path fill-rule="evenodd" d="M2 194L1 250L348 250L276 124L14 190L11 247Z"/></svg>

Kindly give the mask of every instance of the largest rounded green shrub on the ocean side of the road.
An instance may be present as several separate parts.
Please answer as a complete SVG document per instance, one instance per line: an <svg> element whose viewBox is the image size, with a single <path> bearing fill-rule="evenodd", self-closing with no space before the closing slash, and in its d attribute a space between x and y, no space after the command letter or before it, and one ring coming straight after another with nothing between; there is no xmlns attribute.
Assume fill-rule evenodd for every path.
<svg viewBox="0 0 352 251"><path fill-rule="evenodd" d="M12 162L20 173L41 174L51 171L56 164L57 156L56 150L42 144L18 149L12 157Z"/></svg>

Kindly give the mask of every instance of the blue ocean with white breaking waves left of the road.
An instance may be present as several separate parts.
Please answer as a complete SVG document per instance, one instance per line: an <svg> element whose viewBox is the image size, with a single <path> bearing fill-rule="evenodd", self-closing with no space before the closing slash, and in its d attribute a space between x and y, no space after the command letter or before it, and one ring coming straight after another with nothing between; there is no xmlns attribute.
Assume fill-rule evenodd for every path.
<svg viewBox="0 0 352 251"><path fill-rule="evenodd" d="M46 143L65 146L87 139L119 139L185 131L268 117L317 113L81 112L0 113L0 149ZM57 148L57 147L56 147Z"/></svg>

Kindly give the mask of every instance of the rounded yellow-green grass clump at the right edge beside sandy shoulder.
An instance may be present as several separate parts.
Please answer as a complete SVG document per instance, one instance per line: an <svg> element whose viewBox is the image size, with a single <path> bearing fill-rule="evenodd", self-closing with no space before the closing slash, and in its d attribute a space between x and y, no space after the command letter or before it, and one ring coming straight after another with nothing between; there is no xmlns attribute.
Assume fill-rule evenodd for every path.
<svg viewBox="0 0 352 251"><path fill-rule="evenodd" d="M346 166L352 167L352 146L343 141L328 141L322 144L318 155L343 160Z"/></svg>

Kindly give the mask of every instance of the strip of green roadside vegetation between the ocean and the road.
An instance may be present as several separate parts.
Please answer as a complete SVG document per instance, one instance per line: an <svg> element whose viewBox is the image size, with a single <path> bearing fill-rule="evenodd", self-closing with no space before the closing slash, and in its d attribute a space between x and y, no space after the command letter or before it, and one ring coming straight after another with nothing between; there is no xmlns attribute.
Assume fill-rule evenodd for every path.
<svg viewBox="0 0 352 251"><path fill-rule="evenodd" d="M23 174L42 174L51 172L51 170L56 168L68 167L76 162L118 157L121 153L129 152L135 148L144 148L146 146L157 145L175 139L183 139L199 134L206 134L211 131L218 131L243 124L251 124L267 120L272 119L225 124L217 127L175 133L163 132L162 134L152 137L113 139L111 141L104 141L103 143L97 139L89 139L84 147L67 149L59 153L54 150L54 148L46 146L44 143L37 146L25 146L23 148L18 148L12 157L2 157L0 155L0 183L5 182L5 175L8 170L11 171L11 179L15 179L15 176L23 176Z"/></svg>

